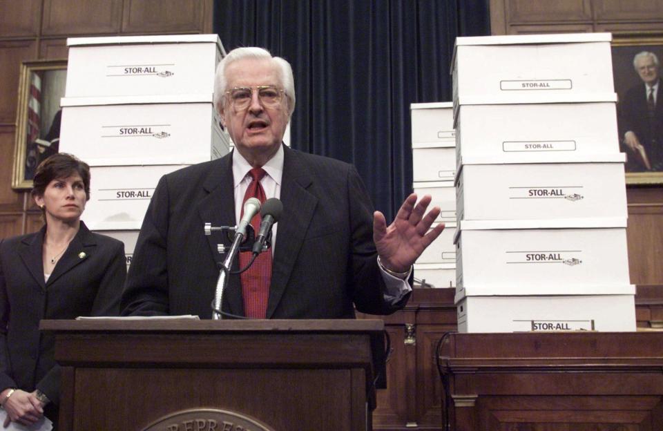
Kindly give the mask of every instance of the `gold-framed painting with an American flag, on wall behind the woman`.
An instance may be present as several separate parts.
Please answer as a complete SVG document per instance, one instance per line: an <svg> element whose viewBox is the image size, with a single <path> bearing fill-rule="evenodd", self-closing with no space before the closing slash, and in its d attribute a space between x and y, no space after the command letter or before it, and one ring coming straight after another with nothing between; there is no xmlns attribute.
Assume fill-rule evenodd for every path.
<svg viewBox="0 0 663 431"><path fill-rule="evenodd" d="M58 152L60 98L64 97L66 78L66 60L21 64L12 173L14 189L32 188L32 177L39 163Z"/></svg>

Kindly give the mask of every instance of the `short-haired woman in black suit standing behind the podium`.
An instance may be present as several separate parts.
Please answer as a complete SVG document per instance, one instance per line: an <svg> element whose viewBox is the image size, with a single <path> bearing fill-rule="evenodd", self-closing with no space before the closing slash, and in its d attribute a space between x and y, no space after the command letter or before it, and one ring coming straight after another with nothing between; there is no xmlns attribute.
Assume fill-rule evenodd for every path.
<svg viewBox="0 0 663 431"><path fill-rule="evenodd" d="M46 224L0 240L0 405L23 425L46 416L57 425L59 366L41 319L117 316L126 275L122 242L90 232L81 213L90 170L72 155L44 160L32 197Z"/></svg>

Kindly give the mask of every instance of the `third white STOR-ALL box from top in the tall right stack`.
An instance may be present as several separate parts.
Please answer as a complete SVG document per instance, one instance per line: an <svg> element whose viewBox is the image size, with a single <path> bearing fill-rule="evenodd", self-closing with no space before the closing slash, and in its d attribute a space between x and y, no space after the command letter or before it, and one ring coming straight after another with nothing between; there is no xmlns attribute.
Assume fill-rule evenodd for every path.
<svg viewBox="0 0 663 431"><path fill-rule="evenodd" d="M463 164L457 185L459 220L627 217L623 159Z"/></svg>

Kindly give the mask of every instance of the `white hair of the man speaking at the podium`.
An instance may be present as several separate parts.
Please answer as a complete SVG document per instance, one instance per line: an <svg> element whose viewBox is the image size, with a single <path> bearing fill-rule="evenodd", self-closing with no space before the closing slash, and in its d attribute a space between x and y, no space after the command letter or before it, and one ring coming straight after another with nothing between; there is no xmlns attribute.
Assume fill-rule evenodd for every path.
<svg viewBox="0 0 663 431"><path fill-rule="evenodd" d="M265 48L258 48L256 46L247 46L231 50L231 52L228 52L228 55L223 57L219 65L216 67L216 74L214 77L214 107L216 110L220 111L227 90L226 68L229 64L233 63L233 61L246 58L271 60L276 66L278 66L283 91L287 96L288 117L292 115L292 112L295 110L295 79L292 76L292 68L290 64L281 57L272 57L269 51Z"/></svg>

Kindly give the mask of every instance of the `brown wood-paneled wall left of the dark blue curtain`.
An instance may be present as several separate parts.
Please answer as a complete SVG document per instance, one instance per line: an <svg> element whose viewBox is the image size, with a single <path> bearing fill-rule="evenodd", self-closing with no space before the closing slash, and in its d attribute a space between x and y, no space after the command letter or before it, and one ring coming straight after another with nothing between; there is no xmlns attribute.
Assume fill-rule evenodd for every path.
<svg viewBox="0 0 663 431"><path fill-rule="evenodd" d="M0 238L36 231L28 191L12 190L21 61L66 59L67 37L212 32L213 0L0 0Z"/></svg>

